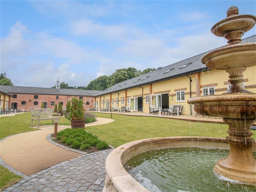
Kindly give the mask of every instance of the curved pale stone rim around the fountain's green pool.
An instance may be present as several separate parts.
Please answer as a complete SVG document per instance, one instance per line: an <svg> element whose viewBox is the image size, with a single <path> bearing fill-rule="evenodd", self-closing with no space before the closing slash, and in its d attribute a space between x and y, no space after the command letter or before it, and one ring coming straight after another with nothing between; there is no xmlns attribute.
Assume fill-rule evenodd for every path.
<svg viewBox="0 0 256 192"><path fill-rule="evenodd" d="M229 148L223 138L213 137L160 137L137 140L115 148L108 155L105 163L107 176L104 192L140 191L148 192L137 180L124 169L123 165L132 157L145 151L172 147L216 147ZM256 151L256 145L253 145Z"/></svg>

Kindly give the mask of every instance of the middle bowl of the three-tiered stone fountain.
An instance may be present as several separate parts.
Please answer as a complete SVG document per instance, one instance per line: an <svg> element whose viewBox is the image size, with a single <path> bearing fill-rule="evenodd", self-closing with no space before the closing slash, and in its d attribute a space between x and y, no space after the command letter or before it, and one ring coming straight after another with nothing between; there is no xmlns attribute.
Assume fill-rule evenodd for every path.
<svg viewBox="0 0 256 192"><path fill-rule="evenodd" d="M214 49L202 57L210 69L227 70L232 67L252 67L256 61L256 42L227 45Z"/></svg>

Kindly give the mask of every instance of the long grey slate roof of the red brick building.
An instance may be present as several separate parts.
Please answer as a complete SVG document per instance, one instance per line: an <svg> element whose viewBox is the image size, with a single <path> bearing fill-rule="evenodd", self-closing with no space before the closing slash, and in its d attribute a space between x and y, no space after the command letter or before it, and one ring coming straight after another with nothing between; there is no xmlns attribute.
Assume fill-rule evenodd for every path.
<svg viewBox="0 0 256 192"><path fill-rule="evenodd" d="M72 95L72 96L95 96L102 91L98 90L81 90L81 89L55 89L46 87L22 87L11 85L0 85L0 91L7 93L30 93L46 95Z"/></svg>

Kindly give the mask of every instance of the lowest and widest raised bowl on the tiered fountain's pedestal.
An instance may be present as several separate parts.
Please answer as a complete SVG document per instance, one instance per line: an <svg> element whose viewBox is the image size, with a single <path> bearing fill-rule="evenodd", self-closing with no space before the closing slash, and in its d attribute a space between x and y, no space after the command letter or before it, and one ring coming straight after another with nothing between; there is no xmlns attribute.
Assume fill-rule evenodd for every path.
<svg viewBox="0 0 256 192"><path fill-rule="evenodd" d="M255 119L256 116L256 93L198 96L188 103L195 104L195 111L206 116L239 119Z"/></svg>

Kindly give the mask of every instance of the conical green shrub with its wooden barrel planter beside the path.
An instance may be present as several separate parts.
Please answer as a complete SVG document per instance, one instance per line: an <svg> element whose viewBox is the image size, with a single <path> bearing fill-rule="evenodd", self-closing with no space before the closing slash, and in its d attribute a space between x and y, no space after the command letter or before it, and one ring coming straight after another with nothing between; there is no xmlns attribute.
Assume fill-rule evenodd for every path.
<svg viewBox="0 0 256 192"><path fill-rule="evenodd" d="M84 128L85 118L83 110L83 101L81 99L73 98L70 106L70 121L71 128Z"/></svg>

